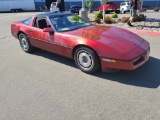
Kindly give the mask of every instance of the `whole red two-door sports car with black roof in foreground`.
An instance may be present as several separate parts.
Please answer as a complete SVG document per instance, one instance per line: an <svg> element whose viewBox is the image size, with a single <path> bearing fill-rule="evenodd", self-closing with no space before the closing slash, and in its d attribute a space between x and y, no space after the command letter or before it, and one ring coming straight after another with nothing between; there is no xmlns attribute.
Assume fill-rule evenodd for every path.
<svg viewBox="0 0 160 120"><path fill-rule="evenodd" d="M83 72L134 70L149 58L149 43L113 26L92 25L71 13L38 14L11 24L25 52L37 47L75 60Z"/></svg>

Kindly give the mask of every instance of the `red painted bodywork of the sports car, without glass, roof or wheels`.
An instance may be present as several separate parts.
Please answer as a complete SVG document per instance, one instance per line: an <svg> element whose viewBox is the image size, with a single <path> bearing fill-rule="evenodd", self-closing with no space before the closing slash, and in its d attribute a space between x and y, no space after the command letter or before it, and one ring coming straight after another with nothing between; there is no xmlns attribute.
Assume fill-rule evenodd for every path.
<svg viewBox="0 0 160 120"><path fill-rule="evenodd" d="M18 34L23 32L28 36L32 46L69 58L73 58L73 50L77 46L89 47L99 56L102 70L107 68L133 70L149 58L149 43L128 30L91 25L73 31L52 33L34 27L34 19L33 16L29 25L22 22L12 23L12 35L18 38ZM102 58L114 59L116 62L106 62Z"/></svg>

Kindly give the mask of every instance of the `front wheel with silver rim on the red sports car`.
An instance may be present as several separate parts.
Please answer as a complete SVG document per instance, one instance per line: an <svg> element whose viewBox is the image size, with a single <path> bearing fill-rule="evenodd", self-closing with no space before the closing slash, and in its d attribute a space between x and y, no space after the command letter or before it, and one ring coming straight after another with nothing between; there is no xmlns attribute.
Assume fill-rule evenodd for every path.
<svg viewBox="0 0 160 120"><path fill-rule="evenodd" d="M94 73L100 68L100 61L97 54L87 47L77 48L74 53L74 60L77 67L82 72L88 74Z"/></svg>

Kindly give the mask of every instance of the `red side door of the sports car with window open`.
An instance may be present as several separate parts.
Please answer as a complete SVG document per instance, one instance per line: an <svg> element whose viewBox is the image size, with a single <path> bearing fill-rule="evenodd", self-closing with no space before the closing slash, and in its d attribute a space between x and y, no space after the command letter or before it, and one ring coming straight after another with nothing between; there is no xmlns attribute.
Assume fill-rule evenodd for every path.
<svg viewBox="0 0 160 120"><path fill-rule="evenodd" d="M52 29L52 26L46 17L35 18L29 34L31 44L38 48L61 54L57 33L44 32L43 29L47 27Z"/></svg>

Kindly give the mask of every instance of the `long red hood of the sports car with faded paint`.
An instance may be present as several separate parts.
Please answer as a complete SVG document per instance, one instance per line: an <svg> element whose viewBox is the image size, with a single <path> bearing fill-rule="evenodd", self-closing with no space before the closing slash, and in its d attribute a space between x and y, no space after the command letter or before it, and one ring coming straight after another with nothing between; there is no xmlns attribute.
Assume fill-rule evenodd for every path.
<svg viewBox="0 0 160 120"><path fill-rule="evenodd" d="M128 30L114 26L89 26L70 34L111 47L118 50L121 55L133 50L144 41L143 38Z"/></svg>

